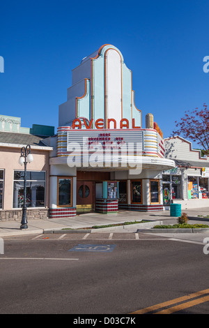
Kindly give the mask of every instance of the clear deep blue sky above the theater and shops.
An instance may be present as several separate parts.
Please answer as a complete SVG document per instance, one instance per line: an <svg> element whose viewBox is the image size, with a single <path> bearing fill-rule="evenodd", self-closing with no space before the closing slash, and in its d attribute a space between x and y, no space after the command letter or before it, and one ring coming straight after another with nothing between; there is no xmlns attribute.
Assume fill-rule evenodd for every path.
<svg viewBox="0 0 209 328"><path fill-rule="evenodd" d="M0 0L0 114L57 127L71 70L109 43L132 70L135 105L164 137L185 110L209 105L207 0Z"/></svg>

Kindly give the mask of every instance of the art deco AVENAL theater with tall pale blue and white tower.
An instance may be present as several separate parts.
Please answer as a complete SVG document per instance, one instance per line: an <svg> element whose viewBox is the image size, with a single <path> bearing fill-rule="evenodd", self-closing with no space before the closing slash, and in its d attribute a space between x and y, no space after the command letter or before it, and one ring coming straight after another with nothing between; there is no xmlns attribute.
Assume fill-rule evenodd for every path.
<svg viewBox="0 0 209 328"><path fill-rule="evenodd" d="M164 158L152 114L144 124L134 104L131 70L120 50L102 45L72 70L68 99L59 106L49 161L49 217L161 211L160 173L175 163Z"/></svg>

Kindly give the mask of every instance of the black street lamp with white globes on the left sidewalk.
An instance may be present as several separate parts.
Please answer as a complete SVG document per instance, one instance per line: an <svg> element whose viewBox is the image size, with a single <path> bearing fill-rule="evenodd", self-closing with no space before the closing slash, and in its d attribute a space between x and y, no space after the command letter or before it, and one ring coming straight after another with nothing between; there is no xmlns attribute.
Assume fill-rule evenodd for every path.
<svg viewBox="0 0 209 328"><path fill-rule="evenodd" d="M29 144L26 147L22 147L19 158L19 164L24 164L24 197L23 197L23 207L22 207L22 221L20 229L27 229L27 214L26 214L26 166L27 163L33 162L33 155L31 154L31 146Z"/></svg>

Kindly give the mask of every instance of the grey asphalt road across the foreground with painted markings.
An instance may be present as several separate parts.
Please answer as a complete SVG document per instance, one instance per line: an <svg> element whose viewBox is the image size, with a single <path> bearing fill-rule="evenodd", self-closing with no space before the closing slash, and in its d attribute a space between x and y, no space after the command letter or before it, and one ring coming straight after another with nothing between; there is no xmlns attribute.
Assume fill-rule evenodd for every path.
<svg viewBox="0 0 209 328"><path fill-rule="evenodd" d="M209 313L208 260L201 244L145 234L11 237L0 255L0 313L127 315L186 302L172 313Z"/></svg>

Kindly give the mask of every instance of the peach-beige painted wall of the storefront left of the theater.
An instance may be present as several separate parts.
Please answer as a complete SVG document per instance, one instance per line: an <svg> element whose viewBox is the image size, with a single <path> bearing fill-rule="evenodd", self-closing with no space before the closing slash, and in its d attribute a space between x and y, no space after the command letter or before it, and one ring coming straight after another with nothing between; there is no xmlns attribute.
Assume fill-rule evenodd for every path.
<svg viewBox="0 0 209 328"><path fill-rule="evenodd" d="M28 171L46 172L46 207L49 207L49 151L31 148L33 162L27 164ZM0 147L0 169L4 169L3 209L13 209L13 176L14 170L24 170L18 163L20 149Z"/></svg>

